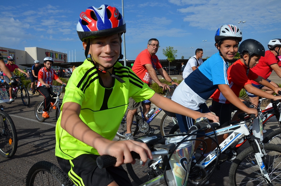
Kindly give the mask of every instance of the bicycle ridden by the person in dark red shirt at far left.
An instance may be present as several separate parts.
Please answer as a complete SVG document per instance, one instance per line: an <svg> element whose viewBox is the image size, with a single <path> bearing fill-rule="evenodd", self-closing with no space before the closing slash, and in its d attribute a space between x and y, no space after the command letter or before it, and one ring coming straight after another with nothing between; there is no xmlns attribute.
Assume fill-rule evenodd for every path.
<svg viewBox="0 0 281 186"><path fill-rule="evenodd" d="M28 93L27 89L25 88L25 86L22 84L22 81L20 80L21 77L15 77L15 78L18 79L18 81L17 81L18 85L17 86L7 85L6 86L7 93L8 93L8 95L10 95L9 88L12 87L12 99L16 99L18 91L20 91L23 105L29 106L29 104L30 104L29 93ZM8 101L5 103L11 104L12 102Z"/></svg>

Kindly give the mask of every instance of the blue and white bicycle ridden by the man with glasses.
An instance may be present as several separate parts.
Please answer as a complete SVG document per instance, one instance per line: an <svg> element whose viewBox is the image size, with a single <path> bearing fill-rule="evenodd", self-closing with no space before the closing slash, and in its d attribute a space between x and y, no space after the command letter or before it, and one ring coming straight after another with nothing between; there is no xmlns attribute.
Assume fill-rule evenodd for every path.
<svg viewBox="0 0 281 186"><path fill-rule="evenodd" d="M172 97L174 91L175 91L175 86L174 85L170 86L170 91L166 91L166 97L170 99ZM156 115L158 115L162 111L161 108L158 108L157 110L155 108L151 109L147 115L149 119L147 121L145 121L145 117L142 112L142 107L140 106L139 109L140 109L141 115L136 113L133 117L133 123L131 126L131 131L132 131L133 136L135 136L139 130L141 132L143 132L144 134L149 134L149 132L150 132L149 123L155 118ZM126 121L127 112L128 112L128 110L126 111L126 114L124 115L124 117L121 121L120 127L116 133L117 136L119 136L120 138L123 138L123 139L125 138L126 131L127 131L127 121Z"/></svg>

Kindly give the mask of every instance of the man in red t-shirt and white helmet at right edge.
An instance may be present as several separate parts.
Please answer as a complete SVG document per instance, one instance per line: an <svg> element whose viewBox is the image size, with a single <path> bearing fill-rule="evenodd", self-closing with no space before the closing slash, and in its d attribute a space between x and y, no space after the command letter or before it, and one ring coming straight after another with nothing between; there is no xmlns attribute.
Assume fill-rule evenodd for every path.
<svg viewBox="0 0 281 186"><path fill-rule="evenodd" d="M278 85L276 83L274 83L273 81L270 81L268 79L268 77L270 76L272 70L274 70L276 72L276 74L281 78L281 68L280 68L281 61L278 58L278 56L281 55L281 50L280 50L281 39L270 40L268 43L268 48L269 48L269 51L265 51L264 57L262 56L260 58L259 64L256 65L252 69L252 71L254 73L258 74L259 76L263 77L264 79L266 79L266 81L268 81L270 84L274 85L275 87L278 87ZM269 94L274 93L274 91L272 91L268 87L260 85L259 83L255 82L253 80L251 82L252 82L252 85L258 89L266 90L266 92ZM246 93L248 94L250 101L254 105L258 105L259 97L249 93L247 90L246 90Z"/></svg>

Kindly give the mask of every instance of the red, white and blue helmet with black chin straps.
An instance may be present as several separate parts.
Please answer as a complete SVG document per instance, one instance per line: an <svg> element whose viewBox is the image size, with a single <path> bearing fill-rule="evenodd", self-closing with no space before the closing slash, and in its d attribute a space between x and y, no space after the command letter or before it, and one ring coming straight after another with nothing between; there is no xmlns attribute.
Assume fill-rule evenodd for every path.
<svg viewBox="0 0 281 186"><path fill-rule="evenodd" d="M126 23L116 7L103 4L99 8L88 7L85 12L81 12L79 22L76 26L76 31L80 40L82 42L87 42L85 56L86 59L89 60L88 53L90 49L90 40L86 41L86 39L119 34L120 41L122 41L121 34L126 33ZM123 55L120 46L120 54L117 61L122 58ZM89 61L95 65L95 62L92 61L92 58ZM104 70L101 70L98 67L96 67L96 69L105 74L106 70L112 68L114 65L115 63L111 67ZM111 76L113 77L114 75ZM117 76L114 76L114 78L118 79ZM119 80L123 81L120 78L118 81Z"/></svg>

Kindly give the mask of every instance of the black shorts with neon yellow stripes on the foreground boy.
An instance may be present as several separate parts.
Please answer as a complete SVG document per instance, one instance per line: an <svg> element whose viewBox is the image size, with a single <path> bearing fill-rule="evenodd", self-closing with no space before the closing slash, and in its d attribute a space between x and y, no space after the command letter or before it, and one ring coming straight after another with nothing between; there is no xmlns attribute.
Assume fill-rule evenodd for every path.
<svg viewBox="0 0 281 186"><path fill-rule="evenodd" d="M107 186L113 181L118 185L132 185L122 166L100 169L96 164L97 157L94 154L82 154L72 160L57 157L57 161L62 171L77 186Z"/></svg>

